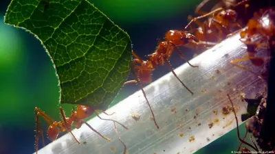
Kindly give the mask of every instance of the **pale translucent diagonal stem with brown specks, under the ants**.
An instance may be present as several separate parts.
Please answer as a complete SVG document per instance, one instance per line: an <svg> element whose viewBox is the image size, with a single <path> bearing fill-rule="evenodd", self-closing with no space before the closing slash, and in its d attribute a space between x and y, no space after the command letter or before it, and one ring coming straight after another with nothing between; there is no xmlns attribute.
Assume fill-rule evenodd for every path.
<svg viewBox="0 0 275 154"><path fill-rule="evenodd" d="M194 153L236 127L234 114L230 112L224 115L226 113L223 112L230 105L226 94L229 93L234 101L241 122L240 116L245 113L246 103L241 101L240 94L254 98L256 92L264 90L262 79L230 64L230 60L244 55L245 49L241 47L245 45L239 41L237 34L190 60L191 64L199 65L199 68L184 64L175 69L181 81L195 93L193 96L179 84L172 73L164 75L144 89L161 127L159 130L151 120L151 112L141 91L107 110L108 113L116 112L113 116L100 116L113 118L129 127L127 131L117 125L131 154ZM261 67L252 67L250 61L241 64L258 73L261 70ZM140 120L135 121L131 114L140 115ZM102 139L83 125L73 131L81 144L77 144L72 135L67 133L45 146L39 154L123 153L124 146L118 140L112 122L93 118L88 123L112 141Z"/></svg>

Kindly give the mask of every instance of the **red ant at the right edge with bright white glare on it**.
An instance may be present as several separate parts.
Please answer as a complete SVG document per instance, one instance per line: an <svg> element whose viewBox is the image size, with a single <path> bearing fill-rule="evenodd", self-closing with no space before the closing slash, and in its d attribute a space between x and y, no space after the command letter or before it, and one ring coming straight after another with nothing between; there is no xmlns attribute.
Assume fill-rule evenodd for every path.
<svg viewBox="0 0 275 154"><path fill-rule="evenodd" d="M261 10L261 12L263 12L263 10ZM273 21L274 19L271 18L271 16L274 17L274 14L275 12L273 9L268 9L263 13L262 17L259 17L258 14L255 14L255 18L252 18L248 21L248 27L242 29L240 33L240 40L246 44L247 53L245 53L244 57L241 59L231 60L231 64L242 68L243 70L250 71L245 66L235 63L250 60L254 66L262 66L266 59L270 59L270 57L256 57L256 49L265 49L267 44L265 40L269 40L270 37L274 36L275 25ZM253 40L257 36L262 37L260 41Z"/></svg>

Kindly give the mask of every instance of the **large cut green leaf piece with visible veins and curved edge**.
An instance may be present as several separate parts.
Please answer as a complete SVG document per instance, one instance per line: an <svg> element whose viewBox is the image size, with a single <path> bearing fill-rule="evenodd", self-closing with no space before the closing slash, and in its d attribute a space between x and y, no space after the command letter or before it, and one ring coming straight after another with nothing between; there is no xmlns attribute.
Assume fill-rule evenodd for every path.
<svg viewBox="0 0 275 154"><path fill-rule="evenodd" d="M41 40L56 68L60 103L109 105L129 75L129 35L86 0L12 0L5 23Z"/></svg>

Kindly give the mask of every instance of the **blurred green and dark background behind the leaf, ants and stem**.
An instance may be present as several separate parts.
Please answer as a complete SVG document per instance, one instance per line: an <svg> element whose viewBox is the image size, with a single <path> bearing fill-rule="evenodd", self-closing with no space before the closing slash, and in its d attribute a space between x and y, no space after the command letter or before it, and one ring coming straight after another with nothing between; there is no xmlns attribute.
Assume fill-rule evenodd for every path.
<svg viewBox="0 0 275 154"><path fill-rule="evenodd" d="M90 0L91 1L91 0ZM163 38L170 29L183 29L187 16L193 14L201 0L94 0L102 12L131 36L133 49L141 56L152 53L157 38ZM40 107L52 118L59 120L58 81L54 67L41 42L23 29L3 24L10 0L0 2L0 153L33 153L35 117L34 107ZM186 52L190 59L192 52ZM172 56L177 67L183 61ZM168 73L168 68L154 72L157 79ZM138 90L126 86L116 103ZM67 113L72 105L63 105ZM41 118L42 119L42 118ZM43 122L46 130L47 124ZM242 130L244 127L242 127ZM242 132L243 134L243 132ZM46 140L46 143L49 143ZM201 149L198 153L231 153L239 140L236 129ZM41 147L41 144L40 144Z"/></svg>

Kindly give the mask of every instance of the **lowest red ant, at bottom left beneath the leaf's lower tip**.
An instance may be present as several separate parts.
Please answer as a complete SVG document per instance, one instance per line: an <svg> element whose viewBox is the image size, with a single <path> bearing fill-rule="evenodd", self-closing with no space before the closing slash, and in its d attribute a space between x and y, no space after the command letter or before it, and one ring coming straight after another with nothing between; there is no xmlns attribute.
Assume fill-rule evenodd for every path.
<svg viewBox="0 0 275 154"><path fill-rule="evenodd" d="M101 120L111 120L111 121L113 121L113 123L118 123L118 124L122 125L121 123L119 123L116 120L101 118L97 113L97 112L102 112L102 113L104 113L108 116L111 116L112 114L115 114L115 112L113 112L112 114L107 114L103 110L96 110L93 107L89 107L89 106L85 106L85 105L78 105L77 110L76 111L72 110L72 115L69 116L69 118L67 118L65 116L65 112L63 111L63 108L59 107L59 110L61 112L61 116L62 116L62 119L63 119L62 121L54 120L53 118L51 118L50 116L45 114L45 112L43 112L38 107L34 108L35 116L36 116L36 154L38 153L38 150L39 150L39 146L38 146L38 144L39 144L39 133L42 136L43 145L45 146L44 136L43 136L43 129L41 127L41 124L39 123L39 116L42 116L42 118L44 118L45 121L50 125L47 129L47 136L50 140L54 141L58 137L59 133L64 132L64 131L69 131L72 134L72 136L74 137L74 140L76 140L76 142L78 142L78 144L80 144L80 142L76 139L76 137L72 133L73 123L74 123L74 126L76 127L76 129L79 129L83 125L83 123L85 123L92 131L94 131L95 133L98 133L99 136L101 136L105 140L111 141L111 139L102 136L101 133L96 131L96 129L91 127L91 125L89 125L84 120L85 118L88 118L89 116L93 115L94 113ZM122 125L122 127L124 127L125 129L128 129L124 125Z"/></svg>

